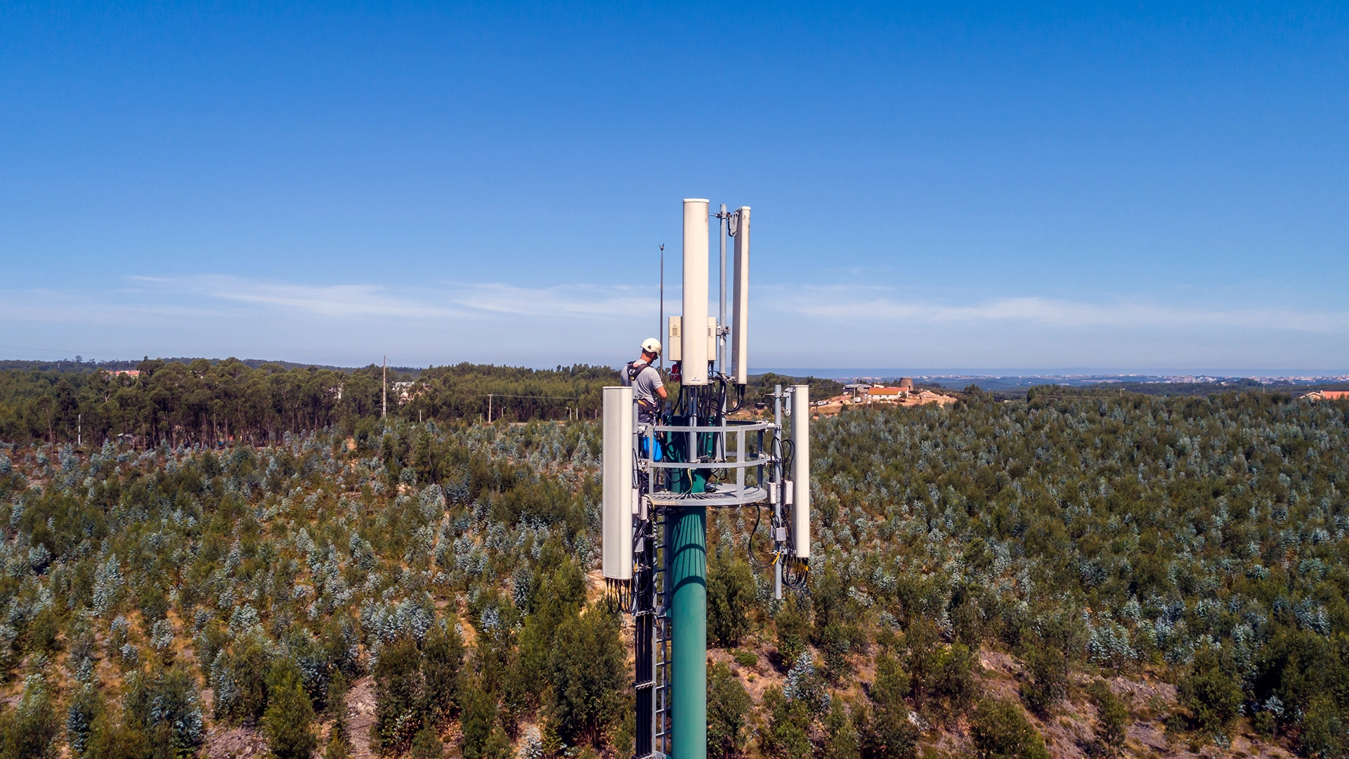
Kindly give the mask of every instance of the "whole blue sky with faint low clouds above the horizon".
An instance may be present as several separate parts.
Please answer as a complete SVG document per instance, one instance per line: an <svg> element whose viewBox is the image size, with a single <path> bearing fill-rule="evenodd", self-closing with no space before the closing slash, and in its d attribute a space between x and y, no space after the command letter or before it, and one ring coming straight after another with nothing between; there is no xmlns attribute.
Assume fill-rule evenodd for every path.
<svg viewBox="0 0 1349 759"><path fill-rule="evenodd" d="M1349 370L1344 5L900 5L4 4L0 357Z"/></svg>

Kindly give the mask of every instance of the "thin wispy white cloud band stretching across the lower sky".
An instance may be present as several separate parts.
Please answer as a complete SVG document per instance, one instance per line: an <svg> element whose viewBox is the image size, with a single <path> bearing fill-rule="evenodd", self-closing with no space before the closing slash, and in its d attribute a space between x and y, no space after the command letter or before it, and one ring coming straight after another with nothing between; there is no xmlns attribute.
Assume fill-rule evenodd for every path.
<svg viewBox="0 0 1349 759"><path fill-rule="evenodd" d="M69 321L104 316L225 316L290 312L326 319L499 319L554 316L580 320L646 319L657 309L649 285L563 284L529 288L506 282L441 282L425 288L382 285L309 285L251 280L227 274L193 277L127 277L130 286L101 290L7 290L0 315ZM679 290L666 293L679 309ZM32 304L45 304L34 313ZM1213 328L1349 332L1349 312L1292 308L1215 308L1197 303L1101 298L1064 300L1039 296L940 303L905 298L894 289L858 285L761 285L751 303L757 316L792 313L823 324L851 320L950 324L1025 323L1081 328ZM865 321L862 321L865 320Z"/></svg>

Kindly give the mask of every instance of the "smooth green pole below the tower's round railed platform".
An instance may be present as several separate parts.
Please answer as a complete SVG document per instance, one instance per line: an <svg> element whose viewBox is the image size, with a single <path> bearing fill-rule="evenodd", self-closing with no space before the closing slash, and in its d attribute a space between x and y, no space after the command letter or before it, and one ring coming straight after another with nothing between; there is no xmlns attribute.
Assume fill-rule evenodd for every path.
<svg viewBox="0 0 1349 759"><path fill-rule="evenodd" d="M707 506L673 515L669 542L674 759L707 759Z"/></svg>

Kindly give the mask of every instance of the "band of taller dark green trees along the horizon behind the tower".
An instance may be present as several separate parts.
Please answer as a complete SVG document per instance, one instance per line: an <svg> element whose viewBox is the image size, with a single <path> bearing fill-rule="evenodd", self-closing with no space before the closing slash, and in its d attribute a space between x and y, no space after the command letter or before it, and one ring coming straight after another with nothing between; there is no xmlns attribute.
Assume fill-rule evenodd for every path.
<svg viewBox="0 0 1349 759"><path fill-rule="evenodd" d="M364 440L384 408L383 369L374 365L348 371L201 358L146 359L135 370L138 375L115 374L76 362L0 369L0 440L259 446L283 432L324 428ZM494 421L596 419L600 389L618 381L618 371L588 365L436 366L415 375L390 371L387 408L393 417L417 421L483 420L488 412ZM799 381L755 377L747 400L758 400L765 388L772 392L774 382ZM808 381L816 397L842 392L831 380Z"/></svg>

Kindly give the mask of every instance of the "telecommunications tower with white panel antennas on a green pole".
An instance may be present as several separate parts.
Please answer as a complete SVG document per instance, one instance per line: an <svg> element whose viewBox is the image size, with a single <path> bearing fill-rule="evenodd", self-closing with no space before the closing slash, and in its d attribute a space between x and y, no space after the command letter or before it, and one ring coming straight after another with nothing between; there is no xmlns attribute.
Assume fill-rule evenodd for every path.
<svg viewBox="0 0 1349 759"><path fill-rule="evenodd" d="M707 200L684 201L684 312L669 317L665 343L679 396L643 423L631 388L604 388L603 563L635 627L637 759L707 758L708 506L770 511L777 598L805 581L811 556L809 392L778 385L772 421L728 419L749 380L750 209L715 213L719 317L708 315L708 211Z"/></svg>

